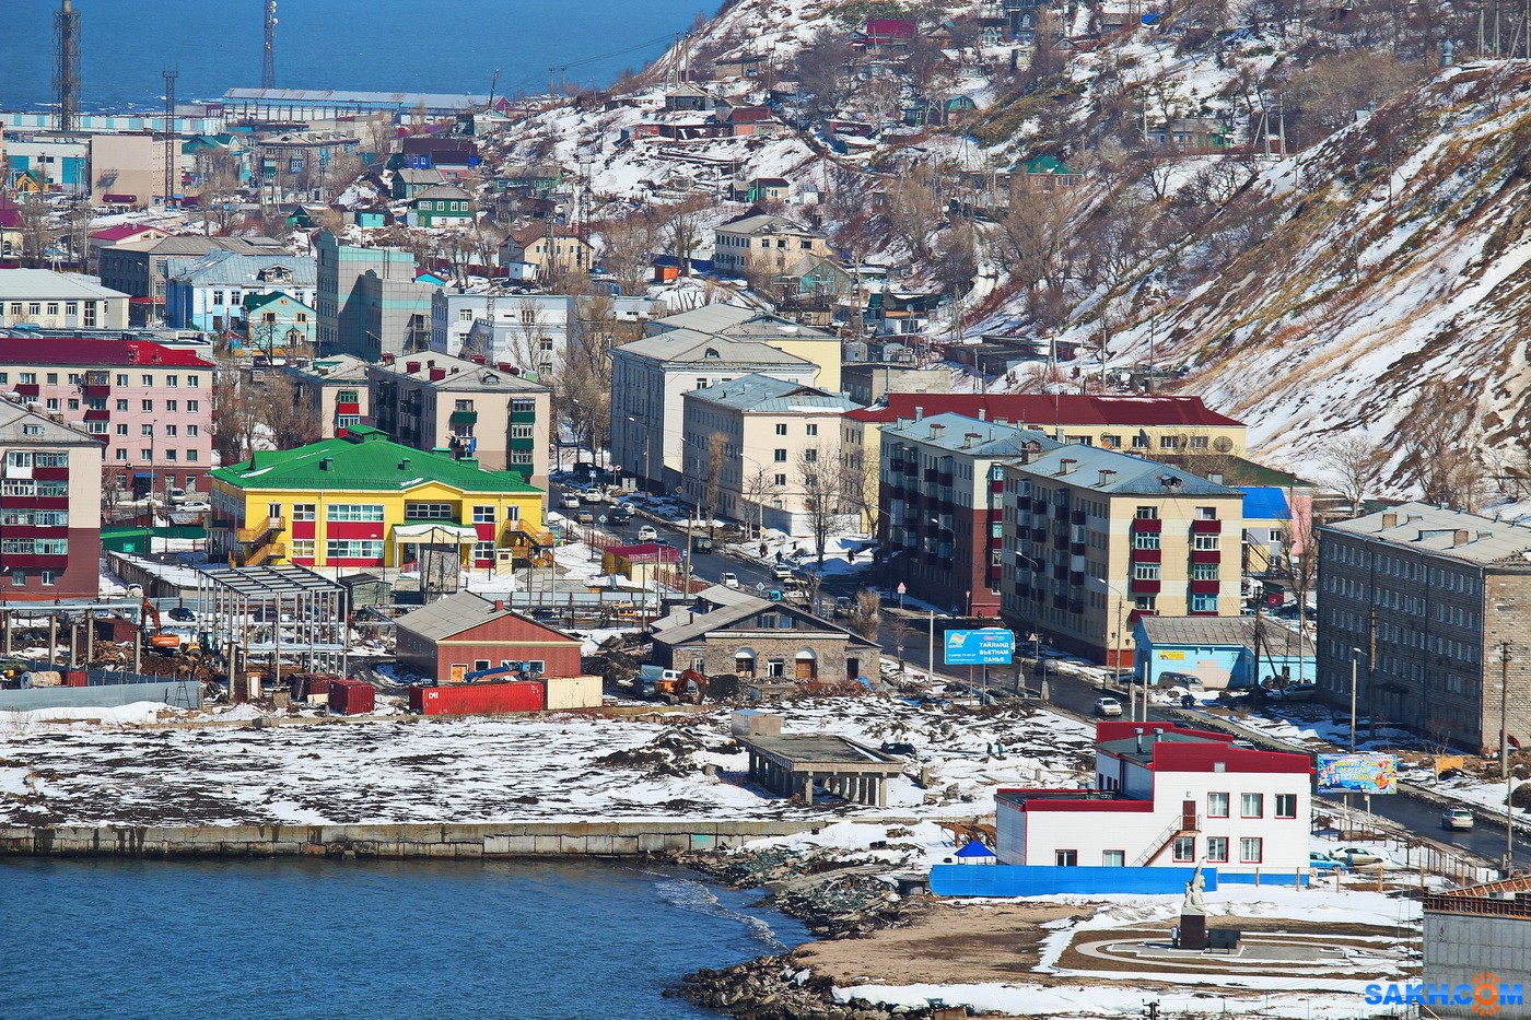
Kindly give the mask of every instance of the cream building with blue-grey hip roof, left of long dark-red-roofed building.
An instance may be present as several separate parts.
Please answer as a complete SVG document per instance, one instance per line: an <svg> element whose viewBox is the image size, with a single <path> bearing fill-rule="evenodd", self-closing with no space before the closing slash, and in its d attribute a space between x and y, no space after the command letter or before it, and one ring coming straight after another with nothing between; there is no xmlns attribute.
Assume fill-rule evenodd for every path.
<svg viewBox="0 0 1531 1020"><path fill-rule="evenodd" d="M807 533L810 489L836 485L830 476L841 470L841 415L854 406L841 394L769 375L686 394L686 502L710 508L713 516ZM822 469L814 467L819 464ZM715 496L709 492L713 476ZM847 502L844 513L844 527L854 528L854 507Z"/></svg>

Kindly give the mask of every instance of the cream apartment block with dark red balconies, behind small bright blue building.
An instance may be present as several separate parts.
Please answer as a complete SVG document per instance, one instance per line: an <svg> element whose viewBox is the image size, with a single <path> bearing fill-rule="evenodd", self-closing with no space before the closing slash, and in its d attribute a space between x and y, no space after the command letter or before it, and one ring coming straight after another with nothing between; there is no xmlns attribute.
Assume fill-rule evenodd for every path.
<svg viewBox="0 0 1531 1020"><path fill-rule="evenodd" d="M1243 493L1069 444L1004 467L1000 614L1020 633L1131 668L1139 616L1239 616Z"/></svg>

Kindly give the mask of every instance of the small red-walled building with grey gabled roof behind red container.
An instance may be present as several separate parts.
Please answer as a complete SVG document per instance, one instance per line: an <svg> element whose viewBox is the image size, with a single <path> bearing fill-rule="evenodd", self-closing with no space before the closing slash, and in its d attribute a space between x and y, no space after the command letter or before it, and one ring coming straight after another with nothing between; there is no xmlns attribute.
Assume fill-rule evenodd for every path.
<svg viewBox="0 0 1531 1020"><path fill-rule="evenodd" d="M472 591L401 616L397 651L401 666L441 683L501 666L527 678L580 675L579 639Z"/></svg>

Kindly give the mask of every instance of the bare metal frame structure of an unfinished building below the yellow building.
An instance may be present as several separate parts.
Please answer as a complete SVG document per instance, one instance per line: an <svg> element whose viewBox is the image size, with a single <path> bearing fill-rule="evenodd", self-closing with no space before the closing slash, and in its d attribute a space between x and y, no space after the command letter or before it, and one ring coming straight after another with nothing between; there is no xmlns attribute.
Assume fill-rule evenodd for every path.
<svg viewBox="0 0 1531 1020"><path fill-rule="evenodd" d="M346 590L305 567L220 567L197 577L207 651L230 677L282 682L282 666L348 675Z"/></svg>

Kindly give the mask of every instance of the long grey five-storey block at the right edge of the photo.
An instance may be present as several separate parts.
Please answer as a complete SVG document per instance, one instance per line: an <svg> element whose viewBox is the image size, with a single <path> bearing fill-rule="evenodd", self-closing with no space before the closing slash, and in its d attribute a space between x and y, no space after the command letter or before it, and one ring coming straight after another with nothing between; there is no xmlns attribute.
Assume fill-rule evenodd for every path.
<svg viewBox="0 0 1531 1020"><path fill-rule="evenodd" d="M1531 528L1407 502L1320 528L1318 686L1473 750L1531 740Z"/></svg>

